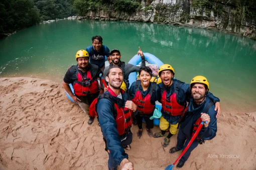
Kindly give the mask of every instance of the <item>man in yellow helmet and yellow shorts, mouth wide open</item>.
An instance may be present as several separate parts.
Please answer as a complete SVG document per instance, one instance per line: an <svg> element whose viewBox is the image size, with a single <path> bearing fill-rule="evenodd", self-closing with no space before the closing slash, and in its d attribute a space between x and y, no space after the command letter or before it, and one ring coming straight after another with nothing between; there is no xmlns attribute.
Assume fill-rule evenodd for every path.
<svg viewBox="0 0 256 170"><path fill-rule="evenodd" d="M174 68L170 64L161 65L159 68L159 76L162 82L157 85L157 99L162 103L162 117L160 118L161 132L155 133L154 137L166 136L166 130L170 126L170 132L165 137L163 146L166 147L170 143L170 138L177 133L178 123L187 109L187 101L191 96L189 84L174 78ZM215 103L215 110L220 114L219 98L208 92L209 98Z"/></svg>

